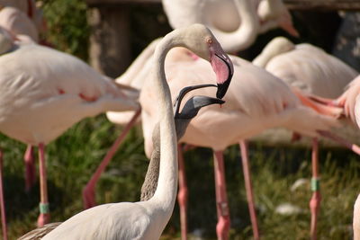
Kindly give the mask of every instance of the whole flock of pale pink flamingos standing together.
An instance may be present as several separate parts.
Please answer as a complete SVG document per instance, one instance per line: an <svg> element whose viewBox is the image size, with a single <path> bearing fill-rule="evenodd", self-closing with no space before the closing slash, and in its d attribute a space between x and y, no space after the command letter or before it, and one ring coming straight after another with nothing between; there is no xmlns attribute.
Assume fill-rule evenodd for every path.
<svg viewBox="0 0 360 240"><path fill-rule="evenodd" d="M247 139L279 127L313 139L310 236L316 239L321 199L318 138L330 138L360 155L360 147L336 135L340 119L360 127L359 73L322 49L294 45L284 37L271 40L252 62L230 55L273 28L299 36L281 0L162 3L175 30L151 42L122 76L111 79L78 58L40 45L46 23L34 0L0 0L0 132L28 145L27 191L35 182L33 147L38 147L40 161L39 228L19 239L159 239L176 195L182 239L187 239L180 143L213 150L216 233L225 240L230 209L223 151L239 145L254 239L260 239ZM63 223L49 224L45 146L76 122L102 112L113 123L125 125L123 132L84 188L85 210ZM140 201L96 206L94 187L100 174L127 131L139 123L150 159ZM0 166L2 161L0 151ZM7 240L3 189L1 178ZM354 237L360 239L360 197Z"/></svg>

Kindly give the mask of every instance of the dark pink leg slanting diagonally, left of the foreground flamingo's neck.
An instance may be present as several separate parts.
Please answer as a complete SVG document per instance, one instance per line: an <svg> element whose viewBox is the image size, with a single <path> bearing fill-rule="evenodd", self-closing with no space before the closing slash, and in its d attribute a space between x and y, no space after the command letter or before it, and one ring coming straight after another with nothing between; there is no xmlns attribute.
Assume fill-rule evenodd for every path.
<svg viewBox="0 0 360 240"><path fill-rule="evenodd" d="M109 151L107 152L106 156L103 158L103 161L101 164L97 167L95 173L91 177L90 181L87 182L84 190L83 190L83 200L84 200L84 209L90 209L93 208L95 203L95 185L96 182L99 180L101 173L103 173L103 170L105 167L110 163L112 160L112 156L116 153L117 149L121 145L121 142L128 134L129 130L132 128L132 126L135 124L136 120L139 117L140 110L136 111L128 125L122 130L121 135L119 138L115 140L115 142L112 144L112 147L110 147Z"/></svg>

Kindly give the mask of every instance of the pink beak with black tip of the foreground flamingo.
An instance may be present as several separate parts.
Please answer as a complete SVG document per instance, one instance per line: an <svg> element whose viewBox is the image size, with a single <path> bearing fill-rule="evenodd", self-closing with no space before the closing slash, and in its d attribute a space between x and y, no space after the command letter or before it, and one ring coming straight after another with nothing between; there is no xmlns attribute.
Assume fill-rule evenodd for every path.
<svg viewBox="0 0 360 240"><path fill-rule="evenodd" d="M225 96L225 93L228 91L231 78L234 75L234 67L227 55L219 55L215 53L214 56L215 57L211 61L211 65L216 73L218 82L218 91L216 92L216 97L222 99Z"/></svg>

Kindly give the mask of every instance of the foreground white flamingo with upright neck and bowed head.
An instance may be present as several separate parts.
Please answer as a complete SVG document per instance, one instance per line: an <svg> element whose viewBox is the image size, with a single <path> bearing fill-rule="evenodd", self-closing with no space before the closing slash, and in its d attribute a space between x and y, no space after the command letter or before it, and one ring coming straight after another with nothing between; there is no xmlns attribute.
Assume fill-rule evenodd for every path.
<svg viewBox="0 0 360 240"><path fill-rule="evenodd" d="M177 191L177 151L171 95L166 84L164 61L169 49L184 46L211 62L222 80L230 81L231 62L211 31L201 24L177 29L166 35L157 46L153 63L152 84L156 88L161 118L160 166L157 191L147 201L120 202L86 209L52 230L42 239L158 239L174 209ZM226 62L226 64L225 64ZM223 79L222 77L225 78ZM218 96L227 86L220 84ZM181 100L181 99L180 99Z"/></svg>

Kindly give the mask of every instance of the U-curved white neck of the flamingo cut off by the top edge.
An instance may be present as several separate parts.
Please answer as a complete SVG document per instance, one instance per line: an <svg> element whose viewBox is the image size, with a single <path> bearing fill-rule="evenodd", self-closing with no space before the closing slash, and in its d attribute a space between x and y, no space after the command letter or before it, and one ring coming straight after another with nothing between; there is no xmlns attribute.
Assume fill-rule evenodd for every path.
<svg viewBox="0 0 360 240"><path fill-rule="evenodd" d="M255 6L249 0L234 0L241 23L236 31L226 32L212 28L216 38L226 52L247 49L257 38L259 22Z"/></svg>

